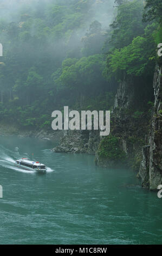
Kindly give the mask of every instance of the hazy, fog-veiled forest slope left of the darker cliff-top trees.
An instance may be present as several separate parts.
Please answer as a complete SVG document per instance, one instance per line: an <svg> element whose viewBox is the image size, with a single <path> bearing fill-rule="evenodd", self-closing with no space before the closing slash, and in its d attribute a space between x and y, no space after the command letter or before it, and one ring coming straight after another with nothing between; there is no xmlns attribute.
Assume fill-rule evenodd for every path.
<svg viewBox="0 0 162 256"><path fill-rule="evenodd" d="M10 18L3 15L9 5L2 1L0 8L0 121L51 129L55 109L87 108L95 96L115 91L102 75L105 38L96 20L111 12L113 3L107 7L92 0L24 0L13 4Z"/></svg>

